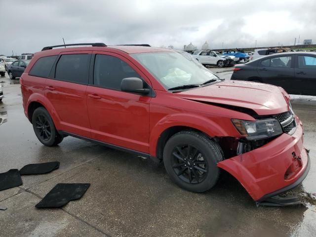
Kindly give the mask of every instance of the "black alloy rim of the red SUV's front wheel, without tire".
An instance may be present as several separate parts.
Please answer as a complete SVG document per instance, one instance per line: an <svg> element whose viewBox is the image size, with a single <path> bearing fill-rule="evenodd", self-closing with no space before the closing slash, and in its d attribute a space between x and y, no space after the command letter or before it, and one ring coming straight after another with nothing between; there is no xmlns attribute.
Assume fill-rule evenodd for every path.
<svg viewBox="0 0 316 237"><path fill-rule="evenodd" d="M207 161L197 148L189 144L175 147L171 164L174 172L184 182L198 184L207 176Z"/></svg>

